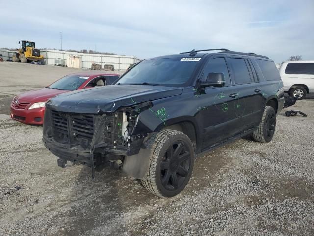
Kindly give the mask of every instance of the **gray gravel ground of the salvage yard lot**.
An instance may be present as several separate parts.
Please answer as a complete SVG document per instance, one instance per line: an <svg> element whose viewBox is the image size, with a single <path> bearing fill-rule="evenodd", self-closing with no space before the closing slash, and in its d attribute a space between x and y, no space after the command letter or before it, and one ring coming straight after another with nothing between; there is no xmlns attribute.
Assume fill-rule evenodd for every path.
<svg viewBox="0 0 314 236"><path fill-rule="evenodd" d="M240 139L197 158L186 189L159 199L110 167L57 167L42 127L9 116L13 95L76 69L0 63L0 235L314 235L314 99L277 117L268 144Z"/></svg>

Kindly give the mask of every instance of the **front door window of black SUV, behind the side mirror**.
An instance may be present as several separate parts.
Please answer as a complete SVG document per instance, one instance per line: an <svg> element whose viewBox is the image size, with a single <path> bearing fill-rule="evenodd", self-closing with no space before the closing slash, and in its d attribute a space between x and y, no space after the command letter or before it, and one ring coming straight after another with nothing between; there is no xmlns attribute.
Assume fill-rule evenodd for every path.
<svg viewBox="0 0 314 236"><path fill-rule="evenodd" d="M230 85L230 76L227 68L227 64L224 58L210 59L204 68L203 81L209 73L223 73L226 81L226 85Z"/></svg>

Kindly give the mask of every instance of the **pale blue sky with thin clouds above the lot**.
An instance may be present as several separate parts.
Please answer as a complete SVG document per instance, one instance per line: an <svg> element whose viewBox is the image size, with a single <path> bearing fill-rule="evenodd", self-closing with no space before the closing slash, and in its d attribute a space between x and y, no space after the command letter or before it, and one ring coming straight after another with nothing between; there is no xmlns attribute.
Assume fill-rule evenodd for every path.
<svg viewBox="0 0 314 236"><path fill-rule="evenodd" d="M0 47L87 49L140 59L228 48L314 60L314 0L0 0ZM25 9L26 14L21 14Z"/></svg>

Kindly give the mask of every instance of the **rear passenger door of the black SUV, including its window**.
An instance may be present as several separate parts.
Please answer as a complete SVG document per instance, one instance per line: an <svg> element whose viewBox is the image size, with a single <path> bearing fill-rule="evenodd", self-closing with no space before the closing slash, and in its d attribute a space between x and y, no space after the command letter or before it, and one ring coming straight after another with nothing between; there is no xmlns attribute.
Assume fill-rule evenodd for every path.
<svg viewBox="0 0 314 236"><path fill-rule="evenodd" d="M232 101L237 119L236 133L259 125L262 116L263 97L261 87L251 61L246 57L228 57L232 87L235 96Z"/></svg>

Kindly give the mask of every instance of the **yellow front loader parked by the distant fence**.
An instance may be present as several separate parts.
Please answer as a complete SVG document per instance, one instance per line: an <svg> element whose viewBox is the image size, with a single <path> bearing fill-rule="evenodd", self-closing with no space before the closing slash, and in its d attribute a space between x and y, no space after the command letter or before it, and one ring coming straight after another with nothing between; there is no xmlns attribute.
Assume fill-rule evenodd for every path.
<svg viewBox="0 0 314 236"><path fill-rule="evenodd" d="M40 55L39 49L35 48L35 43L25 40L22 41L21 48L18 50L18 52L13 53L12 56L12 60L14 62L21 61L22 63L27 63L27 61L39 61L42 59L44 59L44 57Z"/></svg>

